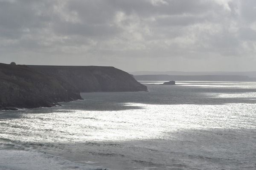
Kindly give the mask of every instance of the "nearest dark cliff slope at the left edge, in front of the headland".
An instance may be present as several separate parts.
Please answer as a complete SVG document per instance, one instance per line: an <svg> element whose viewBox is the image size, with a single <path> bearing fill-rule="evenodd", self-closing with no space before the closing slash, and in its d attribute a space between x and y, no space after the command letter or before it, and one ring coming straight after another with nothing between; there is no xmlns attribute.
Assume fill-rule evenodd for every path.
<svg viewBox="0 0 256 170"><path fill-rule="evenodd" d="M0 63L0 109L50 107L81 99L79 90L25 65Z"/></svg>

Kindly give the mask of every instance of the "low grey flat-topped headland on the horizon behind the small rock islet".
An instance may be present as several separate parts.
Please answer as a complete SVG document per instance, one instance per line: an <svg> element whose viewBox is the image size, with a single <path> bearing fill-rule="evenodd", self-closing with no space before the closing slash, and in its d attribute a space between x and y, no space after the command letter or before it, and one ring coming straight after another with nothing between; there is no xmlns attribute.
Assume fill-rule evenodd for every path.
<svg viewBox="0 0 256 170"><path fill-rule="evenodd" d="M135 75L137 81L256 81L248 76L239 75Z"/></svg>

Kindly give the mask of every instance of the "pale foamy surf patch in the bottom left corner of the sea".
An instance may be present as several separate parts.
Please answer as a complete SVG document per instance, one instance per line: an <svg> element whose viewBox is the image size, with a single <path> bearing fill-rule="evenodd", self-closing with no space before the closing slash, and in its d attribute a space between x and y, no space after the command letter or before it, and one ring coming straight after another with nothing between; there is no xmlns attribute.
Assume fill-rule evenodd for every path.
<svg viewBox="0 0 256 170"><path fill-rule="evenodd" d="M0 150L0 170L104 170L35 150Z"/></svg>

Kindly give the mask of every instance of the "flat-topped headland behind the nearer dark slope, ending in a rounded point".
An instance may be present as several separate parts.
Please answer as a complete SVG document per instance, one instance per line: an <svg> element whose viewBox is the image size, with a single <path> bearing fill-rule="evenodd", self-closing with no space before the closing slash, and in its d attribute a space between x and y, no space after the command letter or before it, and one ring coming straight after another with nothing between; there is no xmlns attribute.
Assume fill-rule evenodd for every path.
<svg viewBox="0 0 256 170"><path fill-rule="evenodd" d="M147 91L125 71L103 66L44 66L30 65L44 74L58 77L81 92L93 91Z"/></svg>

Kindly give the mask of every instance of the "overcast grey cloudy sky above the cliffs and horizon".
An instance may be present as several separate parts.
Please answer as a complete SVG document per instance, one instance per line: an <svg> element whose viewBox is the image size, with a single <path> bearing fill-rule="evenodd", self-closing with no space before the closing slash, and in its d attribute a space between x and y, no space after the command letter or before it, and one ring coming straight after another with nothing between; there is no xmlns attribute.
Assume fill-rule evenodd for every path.
<svg viewBox="0 0 256 170"><path fill-rule="evenodd" d="M256 71L255 0L0 0L0 62Z"/></svg>

